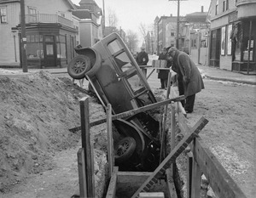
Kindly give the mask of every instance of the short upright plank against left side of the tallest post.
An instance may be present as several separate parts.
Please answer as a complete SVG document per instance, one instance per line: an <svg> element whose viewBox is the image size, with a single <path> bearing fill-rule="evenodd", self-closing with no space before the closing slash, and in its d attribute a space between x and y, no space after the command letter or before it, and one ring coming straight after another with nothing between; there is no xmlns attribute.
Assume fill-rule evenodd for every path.
<svg viewBox="0 0 256 198"><path fill-rule="evenodd" d="M86 172L84 161L84 148L78 151L78 166L79 166L79 192L80 197L87 196Z"/></svg>

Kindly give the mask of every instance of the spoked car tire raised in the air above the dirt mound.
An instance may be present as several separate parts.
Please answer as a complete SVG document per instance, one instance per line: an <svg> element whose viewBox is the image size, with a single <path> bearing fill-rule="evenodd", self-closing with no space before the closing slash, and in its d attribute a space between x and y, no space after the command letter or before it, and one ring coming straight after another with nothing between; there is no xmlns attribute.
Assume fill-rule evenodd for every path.
<svg viewBox="0 0 256 198"><path fill-rule="evenodd" d="M90 71L90 59L85 55L78 55L67 65L67 73L73 79L82 79L87 71Z"/></svg>

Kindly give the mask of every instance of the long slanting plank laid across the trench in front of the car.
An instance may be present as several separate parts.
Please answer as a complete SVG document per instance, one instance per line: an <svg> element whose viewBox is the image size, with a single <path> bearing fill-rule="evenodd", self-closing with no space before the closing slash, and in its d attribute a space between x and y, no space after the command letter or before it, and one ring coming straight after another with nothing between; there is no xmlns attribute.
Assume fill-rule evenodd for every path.
<svg viewBox="0 0 256 198"><path fill-rule="evenodd" d="M166 99L164 101L160 101L160 102L157 102L157 103L154 103L154 104L151 104L151 105L145 105L143 107L137 108L136 110L128 110L128 111L125 111L123 113L113 115L112 120L114 121L114 120L124 118L124 117L127 117L127 116L133 116L137 113L140 113L140 112L143 112L143 111L146 111L146 110L152 110L154 108L160 107L161 105L169 104L172 101L177 102L177 101L180 101L180 100L183 100L183 99L185 99L185 96L181 95L181 96L178 96L178 97L175 97L175 98L172 98L172 99ZM104 117L104 118L102 118L100 120L97 120L95 122L90 122L90 127L96 126L98 124L102 124L104 122L107 122L107 117ZM79 130L81 130L81 127L73 127L73 128L69 129L69 131L71 131L71 132L76 132L76 131L79 131Z"/></svg>

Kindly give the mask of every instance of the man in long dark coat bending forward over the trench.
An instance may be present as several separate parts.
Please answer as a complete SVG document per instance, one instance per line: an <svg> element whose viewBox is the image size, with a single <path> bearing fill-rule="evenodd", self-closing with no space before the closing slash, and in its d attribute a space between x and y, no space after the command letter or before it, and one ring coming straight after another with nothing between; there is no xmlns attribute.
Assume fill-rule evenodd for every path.
<svg viewBox="0 0 256 198"><path fill-rule="evenodd" d="M205 88L200 71L192 59L189 58L189 55L177 50L177 48L170 48L168 54L173 59L172 70L177 72L178 79L182 79L182 81L178 81L178 84L183 83L186 97L184 109L187 113L192 113L195 104L195 93L199 93L201 89ZM178 87L180 86L178 85Z"/></svg>

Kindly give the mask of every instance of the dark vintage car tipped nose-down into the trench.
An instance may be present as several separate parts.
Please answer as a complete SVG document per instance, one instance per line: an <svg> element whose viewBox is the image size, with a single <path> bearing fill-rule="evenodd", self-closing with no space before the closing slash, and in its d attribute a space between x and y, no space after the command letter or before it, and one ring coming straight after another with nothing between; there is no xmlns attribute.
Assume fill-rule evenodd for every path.
<svg viewBox="0 0 256 198"><path fill-rule="evenodd" d="M69 75L74 79L85 77L102 105L112 105L113 114L156 102L146 77L117 33L90 48L79 46L75 51L79 55L69 63ZM119 167L154 170L159 164L159 122L143 112L114 120L113 125L121 136L114 145Z"/></svg>

